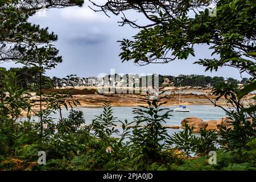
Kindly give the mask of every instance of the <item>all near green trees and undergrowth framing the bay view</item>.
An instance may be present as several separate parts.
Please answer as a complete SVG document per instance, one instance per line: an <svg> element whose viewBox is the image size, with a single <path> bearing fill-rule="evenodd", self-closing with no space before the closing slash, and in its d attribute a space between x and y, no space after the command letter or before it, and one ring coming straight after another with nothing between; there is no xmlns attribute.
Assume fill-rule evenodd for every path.
<svg viewBox="0 0 256 182"><path fill-rule="evenodd" d="M51 8L81 6L82 2L45 4ZM135 9L153 22L141 27L124 19L124 24L144 29L134 36L135 40L121 42L122 60L148 64L187 59L194 54L194 44L204 43L211 44L220 59L203 59L197 64L210 71L227 65L249 73L251 78L243 79L243 89L232 79L218 84L216 81L214 85L216 100L223 96L236 108L226 110L233 119L233 129L223 127L219 133L201 130L197 137L188 125L179 133L168 135L163 123L172 116L170 110L161 107L165 104L162 96L155 100L145 98L148 106L134 111L133 121L115 118L108 102L91 125L86 125L81 111L72 109L68 118L63 118L62 108L78 105L79 101L73 101L66 88L63 92L42 92L44 71L62 60L50 44L57 36L27 23L28 17L42 8L36 3L0 1L0 60L22 63L39 74L38 78L22 76L35 82L32 88L36 99L31 100L28 82L20 81L20 74L27 73L0 68L0 170L256 170L255 102L243 102L246 94L256 89L253 1L219 0L216 16L209 16L208 9L196 11L207 6L208 1L109 1L108 6L101 7L112 13ZM187 16L190 10L195 10L195 18ZM152 12L157 15L148 16ZM173 51L174 57L166 57L166 51ZM65 78L65 85L72 86L71 80L72 76ZM32 108L36 101L40 103L39 110ZM38 117L38 122L32 121L29 111ZM56 111L60 119L55 123L51 113ZM27 118L21 120L24 112L28 113ZM46 152L46 165L38 164L39 151ZM209 151L216 151L216 164L208 163Z"/></svg>

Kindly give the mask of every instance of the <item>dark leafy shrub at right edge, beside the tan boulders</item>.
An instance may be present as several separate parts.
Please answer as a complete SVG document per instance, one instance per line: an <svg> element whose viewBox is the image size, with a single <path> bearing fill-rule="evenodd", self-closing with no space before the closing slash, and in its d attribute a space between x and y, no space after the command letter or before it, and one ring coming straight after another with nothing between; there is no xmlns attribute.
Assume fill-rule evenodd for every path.
<svg viewBox="0 0 256 182"><path fill-rule="evenodd" d="M246 90L246 86L242 90ZM245 91L241 91L237 85L225 83L218 84L213 89L213 94L218 96L216 101L221 97L224 97L229 105L232 105L234 108L236 108L236 111L229 111L226 108L217 105L216 101L213 102L215 106L224 109L226 114L233 119L233 129L226 129L224 127L220 130L219 142L222 144L222 146L229 148L229 150L234 150L235 148L245 148L246 143L254 138L256 134L255 109L253 109L255 105L249 104L249 106L246 107L244 104L246 99L243 98L243 101L241 100L242 98L238 96L242 92ZM243 96L249 92L250 89L243 93Z"/></svg>

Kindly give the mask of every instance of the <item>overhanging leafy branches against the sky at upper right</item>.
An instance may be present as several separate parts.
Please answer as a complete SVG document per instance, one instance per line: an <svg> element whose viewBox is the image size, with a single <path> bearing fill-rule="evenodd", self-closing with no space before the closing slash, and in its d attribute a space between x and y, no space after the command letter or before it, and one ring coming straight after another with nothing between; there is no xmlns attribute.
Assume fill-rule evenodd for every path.
<svg viewBox="0 0 256 182"><path fill-rule="evenodd" d="M216 6L215 14L209 8L210 4ZM220 58L200 59L197 64L211 71L228 65L255 76L255 72L245 68L252 63L233 59L253 58L251 52L256 48L256 6L253 1L108 1L104 5L93 5L105 13L118 15L122 12L122 25L141 28L133 40L121 41L122 61L133 60L139 65L168 63L195 56L195 44L208 44L212 55ZM141 25L128 19L125 12L131 9L142 13L149 23Z"/></svg>

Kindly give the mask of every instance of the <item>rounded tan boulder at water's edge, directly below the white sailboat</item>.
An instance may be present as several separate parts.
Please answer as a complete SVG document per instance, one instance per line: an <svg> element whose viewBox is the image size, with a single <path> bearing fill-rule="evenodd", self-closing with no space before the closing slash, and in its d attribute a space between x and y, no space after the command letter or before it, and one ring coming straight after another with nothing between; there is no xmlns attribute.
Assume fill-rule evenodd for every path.
<svg viewBox="0 0 256 182"><path fill-rule="evenodd" d="M200 129L206 129L208 126L207 122L204 122L203 119L196 117L188 117L181 121L181 125L184 125L185 123L187 123L188 126L193 126L194 132L199 132Z"/></svg>

